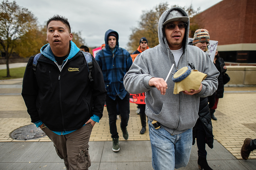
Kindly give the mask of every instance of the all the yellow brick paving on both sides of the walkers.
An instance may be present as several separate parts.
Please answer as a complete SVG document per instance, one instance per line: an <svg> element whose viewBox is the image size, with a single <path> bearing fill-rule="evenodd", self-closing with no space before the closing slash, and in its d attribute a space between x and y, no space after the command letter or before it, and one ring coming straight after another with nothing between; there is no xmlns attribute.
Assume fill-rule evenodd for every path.
<svg viewBox="0 0 256 170"><path fill-rule="evenodd" d="M3 83L0 82L3 85ZM8 84L4 82L4 84ZM18 82L10 82L10 84L18 84ZM256 138L256 87L229 87L225 88L224 98L219 99L218 108L215 116L217 121L212 121L213 134L215 139L220 142L228 151L236 158L241 159L240 149L245 138ZM235 92L244 91L244 92ZM20 93L17 89L0 89L0 93ZM127 126L129 133L128 140L149 140L148 127L145 134L139 134L141 130L140 117L135 113L137 105L130 104L130 119ZM6 112L22 112L17 117L8 116ZM21 95L0 95L0 142L24 142L23 140L13 140L9 134L21 127L31 124L28 114L26 114L26 106ZM14 115L15 115L14 114ZM119 140L122 138L120 129L120 119L117 119L117 129L119 132ZM96 123L90 141L111 141L109 132L107 109L104 108L103 117L100 123ZM48 137L29 141L50 141ZM256 152L250 154L250 158L256 158Z"/></svg>

